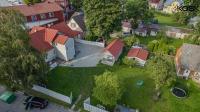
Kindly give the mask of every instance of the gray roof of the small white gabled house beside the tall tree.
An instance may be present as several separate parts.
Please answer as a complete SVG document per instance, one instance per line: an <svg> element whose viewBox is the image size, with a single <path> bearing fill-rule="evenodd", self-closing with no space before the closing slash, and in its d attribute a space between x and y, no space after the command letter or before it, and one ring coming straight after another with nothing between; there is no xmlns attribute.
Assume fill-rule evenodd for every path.
<svg viewBox="0 0 200 112"><path fill-rule="evenodd" d="M85 26L85 21L84 21L84 14L82 12L75 12L71 19L76 21L76 23L79 25L79 27L83 30L86 31L86 26Z"/></svg>

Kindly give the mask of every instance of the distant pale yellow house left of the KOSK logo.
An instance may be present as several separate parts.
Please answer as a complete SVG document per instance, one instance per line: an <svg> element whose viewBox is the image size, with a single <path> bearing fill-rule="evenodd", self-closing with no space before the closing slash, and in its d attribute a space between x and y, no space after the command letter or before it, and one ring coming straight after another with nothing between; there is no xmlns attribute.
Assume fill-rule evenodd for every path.
<svg viewBox="0 0 200 112"><path fill-rule="evenodd" d="M179 12L180 6L183 5L183 0L166 0L163 7L163 12L173 14Z"/></svg>

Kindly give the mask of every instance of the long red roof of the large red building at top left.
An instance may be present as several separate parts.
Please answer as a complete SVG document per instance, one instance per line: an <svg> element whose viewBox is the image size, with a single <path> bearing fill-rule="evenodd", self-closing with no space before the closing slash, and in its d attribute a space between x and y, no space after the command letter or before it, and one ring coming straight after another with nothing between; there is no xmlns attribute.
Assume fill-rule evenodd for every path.
<svg viewBox="0 0 200 112"><path fill-rule="evenodd" d="M24 16L32 16L37 14L63 11L63 9L56 3L37 3L34 5L17 5L11 8L19 10Z"/></svg>

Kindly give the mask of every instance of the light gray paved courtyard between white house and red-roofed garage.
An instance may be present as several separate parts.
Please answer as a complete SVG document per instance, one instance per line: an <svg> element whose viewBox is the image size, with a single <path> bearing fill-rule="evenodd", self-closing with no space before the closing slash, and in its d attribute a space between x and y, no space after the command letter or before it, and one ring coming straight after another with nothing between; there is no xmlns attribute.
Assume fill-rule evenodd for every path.
<svg viewBox="0 0 200 112"><path fill-rule="evenodd" d="M75 49L75 58L70 62L62 64L61 66L95 67L101 60L104 48L76 42Z"/></svg>

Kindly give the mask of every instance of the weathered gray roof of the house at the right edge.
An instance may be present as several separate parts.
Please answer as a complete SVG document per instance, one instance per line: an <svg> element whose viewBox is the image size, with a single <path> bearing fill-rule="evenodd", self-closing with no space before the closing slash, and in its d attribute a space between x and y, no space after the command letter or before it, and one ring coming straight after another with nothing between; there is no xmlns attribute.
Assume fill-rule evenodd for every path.
<svg viewBox="0 0 200 112"><path fill-rule="evenodd" d="M180 62L185 69L200 72L200 46L183 44Z"/></svg>

